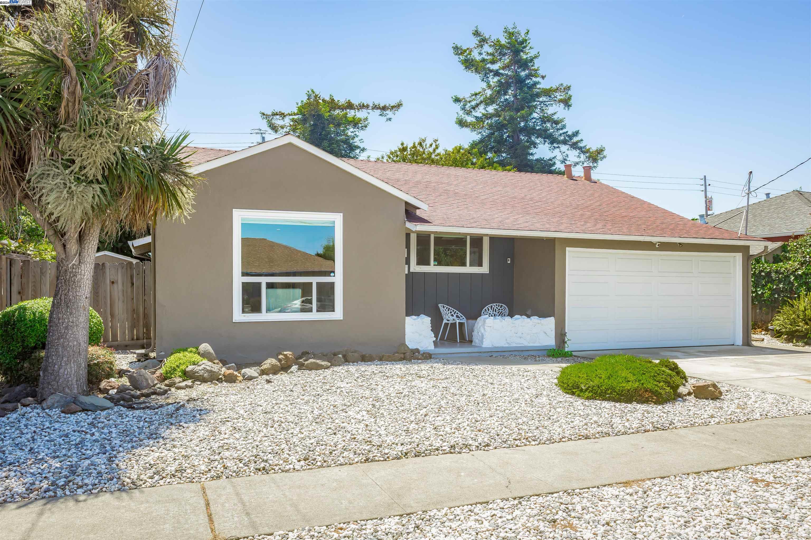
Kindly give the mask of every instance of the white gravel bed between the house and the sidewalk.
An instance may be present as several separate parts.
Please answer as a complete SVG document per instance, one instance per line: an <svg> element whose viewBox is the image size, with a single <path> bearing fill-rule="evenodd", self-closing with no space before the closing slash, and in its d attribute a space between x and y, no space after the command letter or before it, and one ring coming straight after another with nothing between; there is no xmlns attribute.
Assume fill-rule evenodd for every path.
<svg viewBox="0 0 811 540"><path fill-rule="evenodd" d="M346 364L173 390L165 398L186 405L157 410L32 406L0 419L0 502L811 414L806 400L723 384L714 401L586 401L556 376L448 360Z"/></svg>

